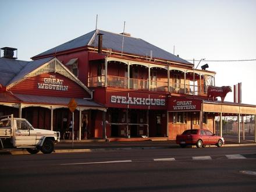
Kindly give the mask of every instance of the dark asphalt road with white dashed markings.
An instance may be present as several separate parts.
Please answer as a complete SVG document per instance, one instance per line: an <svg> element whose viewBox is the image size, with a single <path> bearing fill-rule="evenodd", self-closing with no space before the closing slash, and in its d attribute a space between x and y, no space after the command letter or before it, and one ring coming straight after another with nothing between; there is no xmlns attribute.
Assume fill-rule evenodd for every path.
<svg viewBox="0 0 256 192"><path fill-rule="evenodd" d="M0 156L1 191L255 191L255 147Z"/></svg>

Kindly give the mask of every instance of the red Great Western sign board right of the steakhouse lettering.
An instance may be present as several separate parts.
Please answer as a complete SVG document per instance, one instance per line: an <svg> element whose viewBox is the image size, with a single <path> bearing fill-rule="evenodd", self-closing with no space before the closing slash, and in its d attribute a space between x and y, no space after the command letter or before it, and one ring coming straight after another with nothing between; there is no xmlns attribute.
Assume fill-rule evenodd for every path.
<svg viewBox="0 0 256 192"><path fill-rule="evenodd" d="M171 97L168 100L168 111L201 111L201 100Z"/></svg>

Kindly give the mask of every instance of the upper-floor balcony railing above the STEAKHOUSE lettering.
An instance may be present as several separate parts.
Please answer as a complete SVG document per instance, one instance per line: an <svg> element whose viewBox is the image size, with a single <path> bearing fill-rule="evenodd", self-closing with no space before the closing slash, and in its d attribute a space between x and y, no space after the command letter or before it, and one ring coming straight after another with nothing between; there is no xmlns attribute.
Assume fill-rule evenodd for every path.
<svg viewBox="0 0 256 192"><path fill-rule="evenodd" d="M134 90L150 90L150 91L165 91L168 92L168 82L167 81L150 81L150 86L148 80L144 79L129 79L127 77L119 76L108 76L107 84L105 85L105 76L95 76L88 78L88 87L119 87L119 88L130 88ZM179 94L190 94L190 95L204 95L207 90L204 87L197 86L194 84L182 84L182 83L172 83L170 84L169 91L172 93Z"/></svg>

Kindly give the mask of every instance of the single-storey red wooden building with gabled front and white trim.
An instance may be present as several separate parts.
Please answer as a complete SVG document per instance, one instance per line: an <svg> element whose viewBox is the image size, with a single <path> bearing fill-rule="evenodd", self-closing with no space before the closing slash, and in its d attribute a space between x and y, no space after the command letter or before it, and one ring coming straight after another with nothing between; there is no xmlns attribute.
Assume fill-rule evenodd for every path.
<svg viewBox="0 0 256 192"><path fill-rule="evenodd" d="M80 119L102 118L106 110L91 99L93 93L56 58L25 62L4 57L0 58L0 69L0 116L13 113L28 119L35 128L61 131L63 135L72 118L67 104L74 98L74 131L76 138L81 138ZM92 120L90 125L102 130L101 122ZM95 128L90 137L102 134L101 130Z"/></svg>

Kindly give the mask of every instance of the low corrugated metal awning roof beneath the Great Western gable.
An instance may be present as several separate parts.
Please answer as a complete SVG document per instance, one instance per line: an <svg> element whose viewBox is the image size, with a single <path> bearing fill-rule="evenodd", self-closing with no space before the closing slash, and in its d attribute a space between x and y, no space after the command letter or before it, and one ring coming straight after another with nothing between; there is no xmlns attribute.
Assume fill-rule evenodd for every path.
<svg viewBox="0 0 256 192"><path fill-rule="evenodd" d="M51 97L41 95L13 94L23 102L35 104L64 105L67 106L71 98L68 97ZM93 100L74 98L78 106L87 106L95 108L105 108L103 105L97 104Z"/></svg>

